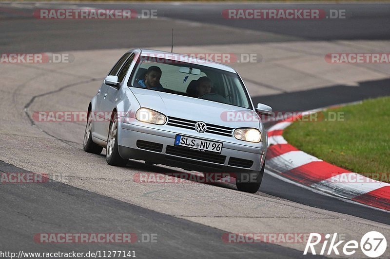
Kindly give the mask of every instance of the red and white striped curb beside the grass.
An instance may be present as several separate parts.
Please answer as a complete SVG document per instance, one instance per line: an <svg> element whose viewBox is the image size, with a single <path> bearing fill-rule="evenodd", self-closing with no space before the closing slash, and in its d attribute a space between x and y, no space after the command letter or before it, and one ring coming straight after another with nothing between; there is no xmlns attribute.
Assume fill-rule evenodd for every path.
<svg viewBox="0 0 390 259"><path fill-rule="evenodd" d="M331 165L289 144L282 136L283 130L296 118L278 122L269 128L267 166L283 177L313 189L390 211L389 183Z"/></svg>

